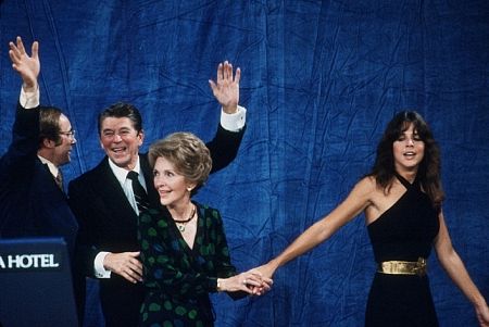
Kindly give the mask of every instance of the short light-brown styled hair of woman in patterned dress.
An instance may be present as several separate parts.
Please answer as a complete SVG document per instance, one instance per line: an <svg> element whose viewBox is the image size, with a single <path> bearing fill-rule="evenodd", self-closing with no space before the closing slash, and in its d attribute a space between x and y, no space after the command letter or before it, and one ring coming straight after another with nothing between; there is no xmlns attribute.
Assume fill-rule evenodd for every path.
<svg viewBox="0 0 489 327"><path fill-rule="evenodd" d="M178 174L195 183L193 191L208 180L212 168L211 152L204 142L191 133L174 133L153 142L148 152L152 168L159 158L170 161Z"/></svg>

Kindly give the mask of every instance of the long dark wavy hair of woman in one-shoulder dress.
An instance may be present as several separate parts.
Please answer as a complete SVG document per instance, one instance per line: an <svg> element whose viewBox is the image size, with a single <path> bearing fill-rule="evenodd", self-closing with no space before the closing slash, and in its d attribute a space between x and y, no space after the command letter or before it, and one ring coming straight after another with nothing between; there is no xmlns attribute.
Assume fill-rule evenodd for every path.
<svg viewBox="0 0 489 327"><path fill-rule="evenodd" d="M385 191L389 191L396 171L392 144L411 124L414 125L414 130L425 142L425 154L419 163L416 177L434 206L439 209L444 199L441 186L440 149L428 124L415 111L400 112L389 122L377 146L377 156L368 176L374 177L377 185Z"/></svg>

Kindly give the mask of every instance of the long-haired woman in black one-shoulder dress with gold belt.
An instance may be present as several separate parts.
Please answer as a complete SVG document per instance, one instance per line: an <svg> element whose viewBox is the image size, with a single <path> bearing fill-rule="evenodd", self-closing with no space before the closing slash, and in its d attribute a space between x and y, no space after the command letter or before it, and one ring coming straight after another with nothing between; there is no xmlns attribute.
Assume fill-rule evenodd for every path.
<svg viewBox="0 0 489 327"><path fill-rule="evenodd" d="M365 326L438 326L426 266L431 248L474 304L480 326L489 326L486 300L452 247L441 210L439 150L429 127L416 112L401 112L387 126L371 174L331 213L256 269L272 277L279 266L364 212L377 262Z"/></svg>

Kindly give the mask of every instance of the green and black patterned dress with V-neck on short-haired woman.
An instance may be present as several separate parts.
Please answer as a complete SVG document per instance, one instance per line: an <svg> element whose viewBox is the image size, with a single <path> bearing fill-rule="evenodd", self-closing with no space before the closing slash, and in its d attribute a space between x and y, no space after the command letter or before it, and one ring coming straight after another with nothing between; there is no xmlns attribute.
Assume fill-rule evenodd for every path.
<svg viewBox="0 0 489 327"><path fill-rule="evenodd" d="M220 212L195 204L198 227L192 249L167 211L149 210L139 217L146 287L140 326L213 326L209 293L216 291L217 277L236 275Z"/></svg>

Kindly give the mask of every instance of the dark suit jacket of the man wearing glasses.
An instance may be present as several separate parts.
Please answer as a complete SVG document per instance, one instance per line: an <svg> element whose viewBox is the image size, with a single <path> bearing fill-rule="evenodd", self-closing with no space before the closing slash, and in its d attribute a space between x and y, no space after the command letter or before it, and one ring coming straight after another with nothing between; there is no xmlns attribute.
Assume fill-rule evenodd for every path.
<svg viewBox="0 0 489 327"><path fill-rule="evenodd" d="M12 143L0 159L0 238L63 237L73 255L78 224L37 156L39 110L17 105Z"/></svg>

